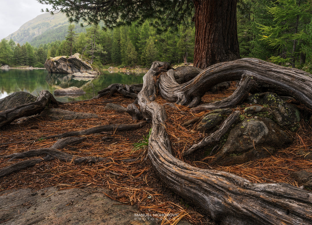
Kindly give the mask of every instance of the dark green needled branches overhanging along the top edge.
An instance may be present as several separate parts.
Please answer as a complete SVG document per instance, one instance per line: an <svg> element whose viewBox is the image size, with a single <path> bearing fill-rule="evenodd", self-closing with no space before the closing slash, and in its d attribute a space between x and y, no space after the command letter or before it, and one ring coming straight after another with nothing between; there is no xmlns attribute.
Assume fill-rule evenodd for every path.
<svg viewBox="0 0 312 225"><path fill-rule="evenodd" d="M49 4L46 12L62 12L70 22L78 23L80 18L87 24L104 22L105 28L130 25L132 22L142 24L147 19L153 21L158 29L168 29L186 21L194 11L189 0L37 0L41 4ZM81 24L84 26L83 24ZM162 28L160 28L162 27Z"/></svg>

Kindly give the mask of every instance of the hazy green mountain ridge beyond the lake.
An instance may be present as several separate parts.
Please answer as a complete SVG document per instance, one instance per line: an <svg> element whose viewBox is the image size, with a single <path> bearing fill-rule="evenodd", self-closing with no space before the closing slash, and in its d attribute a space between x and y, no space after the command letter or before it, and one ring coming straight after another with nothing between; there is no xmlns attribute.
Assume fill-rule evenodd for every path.
<svg viewBox="0 0 312 225"><path fill-rule="evenodd" d="M40 44L51 43L56 40L64 40L67 35L69 22L62 13L51 15L49 12L43 13L34 19L24 23L17 31L8 35L5 39L11 38L20 45L28 42L34 47ZM76 33L85 32L85 27L75 24Z"/></svg>

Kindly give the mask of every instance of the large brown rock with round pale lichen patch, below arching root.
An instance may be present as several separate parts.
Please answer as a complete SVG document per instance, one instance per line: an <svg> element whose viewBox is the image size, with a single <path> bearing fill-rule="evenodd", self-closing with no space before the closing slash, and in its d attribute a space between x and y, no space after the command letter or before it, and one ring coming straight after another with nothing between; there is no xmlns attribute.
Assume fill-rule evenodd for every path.
<svg viewBox="0 0 312 225"><path fill-rule="evenodd" d="M292 142L292 138L271 119L246 118L231 131L217 153L218 165L243 164L273 155L276 149Z"/></svg>

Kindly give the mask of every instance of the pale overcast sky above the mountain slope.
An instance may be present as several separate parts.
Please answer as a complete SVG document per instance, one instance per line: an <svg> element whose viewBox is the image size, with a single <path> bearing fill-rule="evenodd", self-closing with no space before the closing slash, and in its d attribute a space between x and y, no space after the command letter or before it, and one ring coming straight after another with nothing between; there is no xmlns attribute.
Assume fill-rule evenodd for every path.
<svg viewBox="0 0 312 225"><path fill-rule="evenodd" d="M37 17L47 5L37 0L0 0L0 40Z"/></svg>

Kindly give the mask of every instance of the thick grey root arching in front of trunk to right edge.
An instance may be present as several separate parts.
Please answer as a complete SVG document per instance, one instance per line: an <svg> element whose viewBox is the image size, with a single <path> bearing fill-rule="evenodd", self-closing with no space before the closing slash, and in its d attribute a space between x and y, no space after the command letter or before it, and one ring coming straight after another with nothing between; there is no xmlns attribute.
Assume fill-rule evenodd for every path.
<svg viewBox="0 0 312 225"><path fill-rule="evenodd" d="M223 81L239 80L242 74L248 74L257 85L291 96L312 109L311 74L300 69L244 58L212 65L184 84L178 84L173 73L173 70L168 70L160 75L159 92L163 98L177 104L194 107L212 86Z"/></svg>

